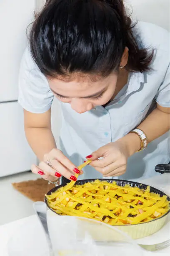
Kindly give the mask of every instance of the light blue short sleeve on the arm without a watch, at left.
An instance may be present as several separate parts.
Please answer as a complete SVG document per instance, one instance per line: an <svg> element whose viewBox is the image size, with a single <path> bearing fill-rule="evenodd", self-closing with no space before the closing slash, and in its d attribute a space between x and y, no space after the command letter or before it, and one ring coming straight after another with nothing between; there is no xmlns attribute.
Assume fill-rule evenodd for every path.
<svg viewBox="0 0 170 256"><path fill-rule="evenodd" d="M50 109L53 94L46 77L32 59L29 47L20 65L18 103L32 113L44 113Z"/></svg>

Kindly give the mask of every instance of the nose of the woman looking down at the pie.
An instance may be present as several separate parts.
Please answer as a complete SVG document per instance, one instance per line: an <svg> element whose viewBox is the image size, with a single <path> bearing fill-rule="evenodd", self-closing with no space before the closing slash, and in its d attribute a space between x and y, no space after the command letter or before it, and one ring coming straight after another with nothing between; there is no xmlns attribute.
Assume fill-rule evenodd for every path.
<svg viewBox="0 0 170 256"><path fill-rule="evenodd" d="M93 108L93 105L91 102L88 102L87 99L72 99L71 101L71 108L75 110L77 113L82 114L86 111L89 111Z"/></svg>

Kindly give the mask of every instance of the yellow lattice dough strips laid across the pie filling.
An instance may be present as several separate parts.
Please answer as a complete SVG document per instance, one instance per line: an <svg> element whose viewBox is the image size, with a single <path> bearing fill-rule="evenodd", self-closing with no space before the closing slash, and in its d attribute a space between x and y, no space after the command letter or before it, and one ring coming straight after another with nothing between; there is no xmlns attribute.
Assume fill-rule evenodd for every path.
<svg viewBox="0 0 170 256"><path fill-rule="evenodd" d="M102 183L102 184L101 184ZM56 195L59 198L56 198L55 202L52 200L54 199L51 196L47 196L49 200L49 205L52 207L52 209L56 210L57 212L63 212L67 215L74 215L74 216L82 216L86 218L97 218L98 220L103 220L106 216L108 216L110 219L110 225L114 225L117 222L120 221L128 221L131 224L140 223L142 220L150 220L153 219L150 216L155 212L155 210L160 210L160 212L166 212L167 209L163 209L161 207L166 207L168 205L168 202L166 201L167 197L163 196L160 197L159 195L153 194L150 196L149 194L149 187L145 192L140 192L138 188L132 188L132 187L118 187L115 184L109 184L108 182L100 182L95 181L92 182L92 184L84 184L84 187L81 185L76 185L70 189L71 192L76 190L75 195L72 195L73 193L67 191L67 190L60 190L59 193L56 193ZM103 189L102 195L97 194L98 190L103 186L110 187L110 189ZM115 187L117 189L115 189ZM111 190L111 188L114 188ZM134 193L132 193L135 190ZM89 191L90 190L90 191ZM92 191L95 190L95 193L92 193ZM113 192L114 191L114 192ZM123 191L128 194L124 194ZM63 192L65 195L63 195ZM135 193L139 193L140 196L136 196ZM117 200L114 198L114 196L120 196L120 198ZM135 196L134 196L135 195ZM87 198L85 198L88 196ZM84 197L84 198L83 198ZM109 198L111 200L111 203L106 202L105 200ZM144 197L147 197L148 200L146 200ZM155 199L156 197L156 199ZM68 201L72 200L72 206L71 207L62 207L60 203L62 203L65 198L67 198ZM131 199L134 200L133 202L123 202L123 200ZM143 203L142 205L135 205L140 200L140 203ZM90 202L89 202L90 201ZM81 204L80 207L75 208L77 204ZM95 204L95 205L94 205ZM96 206L99 205L100 207ZM131 206L133 208L128 208L128 206ZM150 207L149 207L150 206ZM113 210L110 211L109 209L112 208ZM76 210L77 209L77 210ZM142 209L144 210L143 213L140 215L137 214L137 216L133 216L133 218L128 217L129 214L134 214L137 212L137 210ZM114 213L120 212L120 215L117 217Z"/></svg>

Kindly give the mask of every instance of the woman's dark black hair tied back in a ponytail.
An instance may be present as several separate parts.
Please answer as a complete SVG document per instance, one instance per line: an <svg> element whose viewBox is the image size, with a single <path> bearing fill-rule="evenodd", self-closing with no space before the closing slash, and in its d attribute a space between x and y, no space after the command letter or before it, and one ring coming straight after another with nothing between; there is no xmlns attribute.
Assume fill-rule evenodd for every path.
<svg viewBox="0 0 170 256"><path fill-rule="evenodd" d="M125 46L126 69L150 69L153 50L140 49L123 0L47 0L30 31L30 50L46 76L107 76L118 70Z"/></svg>

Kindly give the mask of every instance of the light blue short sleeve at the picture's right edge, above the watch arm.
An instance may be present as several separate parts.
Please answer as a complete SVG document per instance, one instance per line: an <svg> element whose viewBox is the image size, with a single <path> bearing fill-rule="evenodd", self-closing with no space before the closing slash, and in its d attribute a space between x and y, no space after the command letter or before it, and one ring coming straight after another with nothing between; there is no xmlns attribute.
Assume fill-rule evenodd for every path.
<svg viewBox="0 0 170 256"><path fill-rule="evenodd" d="M160 106L170 108L170 64L155 99Z"/></svg>

